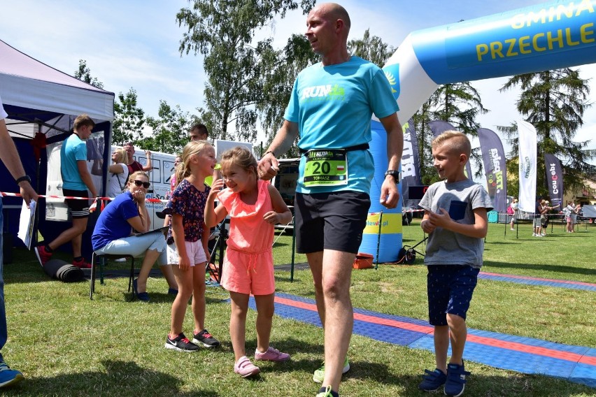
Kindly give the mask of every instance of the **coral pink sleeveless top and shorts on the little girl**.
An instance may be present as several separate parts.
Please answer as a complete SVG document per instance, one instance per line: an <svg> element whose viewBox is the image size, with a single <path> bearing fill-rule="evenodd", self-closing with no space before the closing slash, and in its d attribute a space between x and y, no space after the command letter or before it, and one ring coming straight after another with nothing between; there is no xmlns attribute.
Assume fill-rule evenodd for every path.
<svg viewBox="0 0 596 397"><path fill-rule="evenodd" d="M229 238L222 270L222 287L240 294L275 292L273 268L274 225L264 215L273 210L269 183L257 181L257 202L247 205L230 189L218 194L230 217Z"/></svg>

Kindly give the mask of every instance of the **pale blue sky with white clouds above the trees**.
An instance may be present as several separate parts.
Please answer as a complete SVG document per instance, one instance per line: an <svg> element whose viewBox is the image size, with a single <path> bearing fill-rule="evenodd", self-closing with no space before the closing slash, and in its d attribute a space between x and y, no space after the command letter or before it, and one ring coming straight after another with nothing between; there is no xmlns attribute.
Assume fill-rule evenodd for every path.
<svg viewBox="0 0 596 397"><path fill-rule="evenodd" d="M543 1L346 0L339 3L352 19L350 38L362 37L369 28L372 35L397 47L411 31ZM201 57L192 54L180 57L178 52L184 29L176 24L176 12L188 5L185 0L7 1L2 7L0 38L17 50L69 74L76 71L79 59L85 59L92 75L103 82L108 91L118 94L134 87L139 104L148 115L157 115L160 99L193 112L194 108L202 106L205 76ZM304 15L293 12L261 34L274 36L276 45L281 47L290 34L304 32L304 22ZM596 67L582 66L581 71L583 78L593 78L590 83L594 97ZM519 117L515 110L518 93L497 92L504 81L505 78L497 78L474 82L485 107L492 110L479 119L485 128L496 130L497 124L511 124ZM596 109L586 114L585 122L577 140L593 136ZM590 147L596 148L596 143L591 143Z"/></svg>

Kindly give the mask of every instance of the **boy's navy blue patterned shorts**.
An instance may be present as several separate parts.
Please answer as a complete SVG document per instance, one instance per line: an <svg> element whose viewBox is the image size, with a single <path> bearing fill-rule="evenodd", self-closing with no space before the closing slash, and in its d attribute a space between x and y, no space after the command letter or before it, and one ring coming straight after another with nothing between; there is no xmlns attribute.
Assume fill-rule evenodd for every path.
<svg viewBox="0 0 596 397"><path fill-rule="evenodd" d="M466 265L429 265L428 317L431 325L447 325L447 313L466 319L480 269Z"/></svg>

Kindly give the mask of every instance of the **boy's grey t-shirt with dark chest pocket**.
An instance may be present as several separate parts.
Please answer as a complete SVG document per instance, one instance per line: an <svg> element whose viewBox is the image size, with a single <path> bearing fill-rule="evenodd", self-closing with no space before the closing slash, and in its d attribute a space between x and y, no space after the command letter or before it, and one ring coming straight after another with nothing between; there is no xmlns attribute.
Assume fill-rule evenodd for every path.
<svg viewBox="0 0 596 397"><path fill-rule="evenodd" d="M426 191L420 207L441 213L449 212L451 219L460 224L474 224L474 210L492 210L486 190L471 180L436 182ZM437 227L428 236L425 265L469 265L481 268L484 251L483 238L464 236L461 233Z"/></svg>

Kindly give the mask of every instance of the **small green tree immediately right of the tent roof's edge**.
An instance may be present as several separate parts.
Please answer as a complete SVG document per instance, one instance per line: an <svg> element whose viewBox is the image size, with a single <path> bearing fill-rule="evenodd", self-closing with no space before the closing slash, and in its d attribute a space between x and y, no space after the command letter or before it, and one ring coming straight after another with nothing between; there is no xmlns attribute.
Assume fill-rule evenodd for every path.
<svg viewBox="0 0 596 397"><path fill-rule="evenodd" d="M136 91L131 87L126 94L118 94L114 102L112 143L124 145L130 140L143 138L145 112L137 105Z"/></svg>

